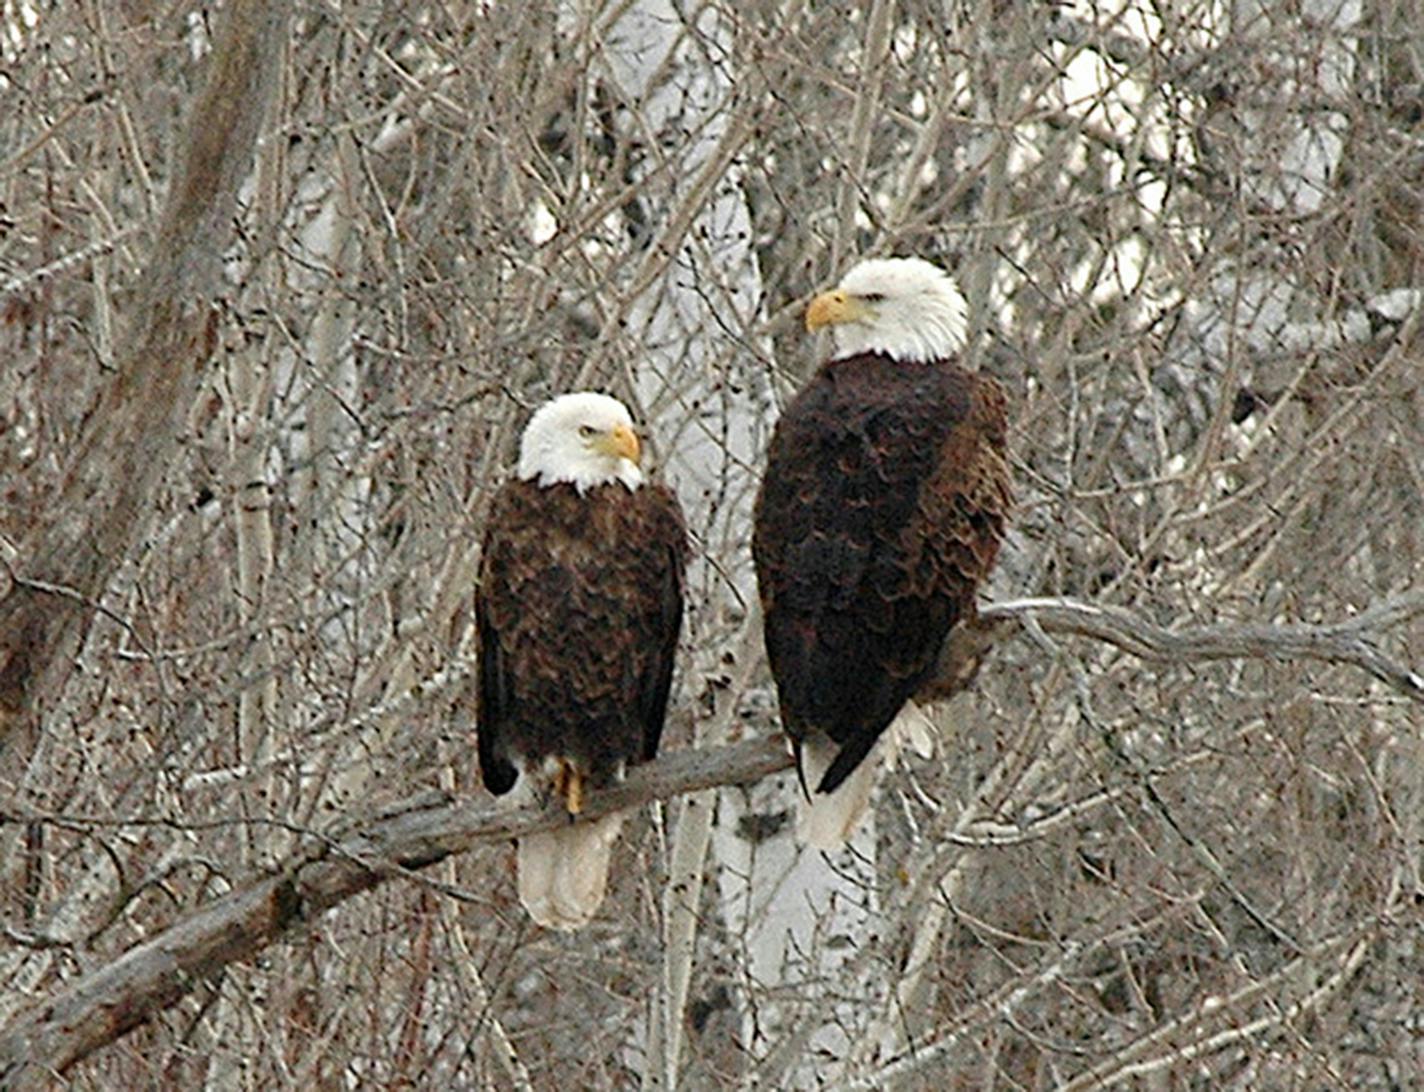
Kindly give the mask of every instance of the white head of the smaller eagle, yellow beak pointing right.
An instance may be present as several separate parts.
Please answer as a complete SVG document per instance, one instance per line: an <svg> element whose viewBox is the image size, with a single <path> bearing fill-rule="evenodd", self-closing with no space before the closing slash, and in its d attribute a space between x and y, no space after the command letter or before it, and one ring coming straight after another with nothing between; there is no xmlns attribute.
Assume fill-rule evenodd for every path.
<svg viewBox="0 0 1424 1092"><path fill-rule="evenodd" d="M614 481L635 490L642 484L641 458L628 407L607 394L575 390L545 401L530 417L520 440L518 476L540 485L568 481L580 493Z"/></svg>

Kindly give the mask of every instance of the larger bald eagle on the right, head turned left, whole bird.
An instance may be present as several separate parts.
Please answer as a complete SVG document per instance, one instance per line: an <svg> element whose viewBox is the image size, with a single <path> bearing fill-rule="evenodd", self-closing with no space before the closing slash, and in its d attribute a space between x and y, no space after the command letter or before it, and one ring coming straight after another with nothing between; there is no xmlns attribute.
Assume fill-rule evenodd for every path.
<svg viewBox="0 0 1424 1092"><path fill-rule="evenodd" d="M940 268L866 261L812 300L836 355L776 424L752 554L803 841L847 840L881 733L933 699L1010 511L1004 390L960 366L964 299Z"/></svg>

